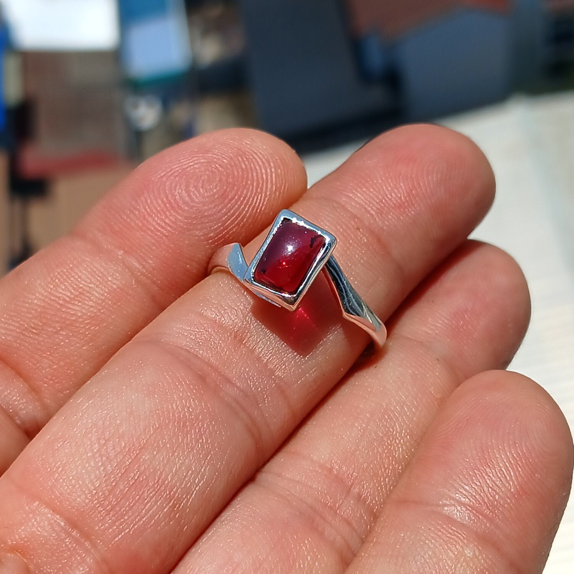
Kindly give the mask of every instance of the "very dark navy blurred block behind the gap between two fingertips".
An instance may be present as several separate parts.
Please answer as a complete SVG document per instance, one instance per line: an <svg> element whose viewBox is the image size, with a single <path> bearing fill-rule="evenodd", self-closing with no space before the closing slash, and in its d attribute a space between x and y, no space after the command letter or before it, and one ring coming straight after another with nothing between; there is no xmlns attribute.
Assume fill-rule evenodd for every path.
<svg viewBox="0 0 574 574"><path fill-rule="evenodd" d="M360 134L397 109L388 84L360 77L336 0L239 0L258 119L301 149ZM372 129L372 128L371 128Z"/></svg>

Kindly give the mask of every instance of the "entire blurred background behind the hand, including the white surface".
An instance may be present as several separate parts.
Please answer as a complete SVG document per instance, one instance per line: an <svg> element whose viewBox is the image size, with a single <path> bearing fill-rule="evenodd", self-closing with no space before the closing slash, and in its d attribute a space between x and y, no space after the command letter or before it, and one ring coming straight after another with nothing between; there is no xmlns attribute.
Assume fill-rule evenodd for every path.
<svg viewBox="0 0 574 574"><path fill-rule="evenodd" d="M0 52L0 276L193 135L270 131L313 183L442 123L494 166L475 236L532 290L511 367L574 426L574 0L0 0ZM571 503L546 573L572 572Z"/></svg>

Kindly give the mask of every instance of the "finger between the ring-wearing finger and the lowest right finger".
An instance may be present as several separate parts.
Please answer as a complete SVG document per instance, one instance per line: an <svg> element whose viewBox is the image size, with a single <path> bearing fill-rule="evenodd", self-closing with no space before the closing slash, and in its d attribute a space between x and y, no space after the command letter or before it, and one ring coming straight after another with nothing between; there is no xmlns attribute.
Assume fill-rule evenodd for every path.
<svg viewBox="0 0 574 574"><path fill-rule="evenodd" d="M341 574L457 385L506 366L529 319L516 263L467 242L189 550L176 574Z"/></svg>

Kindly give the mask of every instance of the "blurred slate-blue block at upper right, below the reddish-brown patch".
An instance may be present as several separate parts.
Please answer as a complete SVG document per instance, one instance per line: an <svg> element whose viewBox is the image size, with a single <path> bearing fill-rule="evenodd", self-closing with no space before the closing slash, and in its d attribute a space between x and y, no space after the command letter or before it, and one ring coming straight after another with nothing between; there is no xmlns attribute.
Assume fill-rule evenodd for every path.
<svg viewBox="0 0 574 574"><path fill-rule="evenodd" d="M411 30L394 45L409 121L498 102L513 88L511 19L459 9Z"/></svg>

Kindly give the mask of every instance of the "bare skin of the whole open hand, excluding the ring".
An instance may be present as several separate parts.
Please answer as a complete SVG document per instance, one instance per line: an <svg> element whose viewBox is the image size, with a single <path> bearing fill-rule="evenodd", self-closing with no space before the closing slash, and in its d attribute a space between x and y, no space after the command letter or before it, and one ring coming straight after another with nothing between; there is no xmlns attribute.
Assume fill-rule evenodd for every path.
<svg viewBox="0 0 574 574"><path fill-rule="evenodd" d="M0 282L0 574L541 572L572 439L493 371L530 308L514 261L466 239L483 154L408 126L305 187L277 139L205 135ZM205 277L283 207L338 237L382 351L323 278L290 314Z"/></svg>

